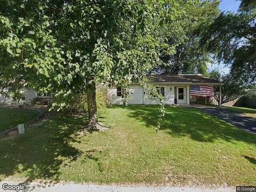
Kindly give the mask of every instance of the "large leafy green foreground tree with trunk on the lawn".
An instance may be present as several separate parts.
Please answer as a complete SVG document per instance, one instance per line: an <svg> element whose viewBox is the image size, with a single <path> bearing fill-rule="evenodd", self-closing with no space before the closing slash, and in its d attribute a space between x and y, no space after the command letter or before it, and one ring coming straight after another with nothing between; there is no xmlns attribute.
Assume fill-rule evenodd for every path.
<svg viewBox="0 0 256 192"><path fill-rule="evenodd" d="M150 89L146 74L161 63L159 50L174 46L159 28L178 17L179 7L179 1L158 0L2 0L1 86L55 97L86 93L93 129L95 85L125 88L137 82Z"/></svg>

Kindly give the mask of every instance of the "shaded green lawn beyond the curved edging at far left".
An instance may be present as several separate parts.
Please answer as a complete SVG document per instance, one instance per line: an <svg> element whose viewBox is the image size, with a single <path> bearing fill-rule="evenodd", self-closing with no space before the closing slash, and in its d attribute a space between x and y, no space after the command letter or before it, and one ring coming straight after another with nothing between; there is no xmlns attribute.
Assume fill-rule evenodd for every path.
<svg viewBox="0 0 256 192"><path fill-rule="evenodd" d="M34 110L0 108L0 132L9 129L10 126L26 123L37 115L38 112Z"/></svg>

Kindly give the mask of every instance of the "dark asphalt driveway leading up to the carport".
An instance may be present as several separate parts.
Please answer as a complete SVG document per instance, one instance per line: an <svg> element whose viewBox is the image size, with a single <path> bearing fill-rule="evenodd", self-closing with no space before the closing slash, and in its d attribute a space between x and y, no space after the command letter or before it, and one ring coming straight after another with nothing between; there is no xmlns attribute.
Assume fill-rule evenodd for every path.
<svg viewBox="0 0 256 192"><path fill-rule="evenodd" d="M229 122L237 126L240 129L244 129L249 131L253 134L256 134L256 118L253 117L246 117L241 114L237 114L225 109L219 108L201 108L205 113L217 116L224 121Z"/></svg>

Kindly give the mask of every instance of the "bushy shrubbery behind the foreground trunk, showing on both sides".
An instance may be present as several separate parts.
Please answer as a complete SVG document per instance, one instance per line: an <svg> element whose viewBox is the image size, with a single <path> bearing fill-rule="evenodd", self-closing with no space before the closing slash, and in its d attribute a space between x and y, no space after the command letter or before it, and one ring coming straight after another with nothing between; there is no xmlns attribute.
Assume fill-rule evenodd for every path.
<svg viewBox="0 0 256 192"><path fill-rule="evenodd" d="M96 102L98 113L101 113L108 105L108 89L104 86L97 86ZM69 97L55 97L52 100L52 109L57 111L68 111L75 114L87 114L86 94L70 94Z"/></svg>

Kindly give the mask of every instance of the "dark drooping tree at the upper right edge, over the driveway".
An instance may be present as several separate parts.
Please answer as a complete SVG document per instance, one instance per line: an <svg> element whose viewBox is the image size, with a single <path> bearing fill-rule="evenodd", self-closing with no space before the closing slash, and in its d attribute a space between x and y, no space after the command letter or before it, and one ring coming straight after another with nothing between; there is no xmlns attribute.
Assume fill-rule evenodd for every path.
<svg viewBox="0 0 256 192"><path fill-rule="evenodd" d="M231 66L242 83L256 80L256 3L242 0L237 13L223 12L205 30L201 45Z"/></svg>

